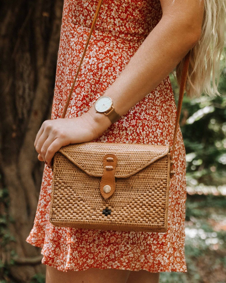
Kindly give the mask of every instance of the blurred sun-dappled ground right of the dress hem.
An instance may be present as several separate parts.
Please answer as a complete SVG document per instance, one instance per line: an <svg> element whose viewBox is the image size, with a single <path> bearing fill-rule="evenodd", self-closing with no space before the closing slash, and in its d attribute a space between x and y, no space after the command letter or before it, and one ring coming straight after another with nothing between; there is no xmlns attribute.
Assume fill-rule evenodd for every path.
<svg viewBox="0 0 226 283"><path fill-rule="evenodd" d="M161 283L226 283L225 215L225 196L188 196L185 230L188 272L162 273Z"/></svg>

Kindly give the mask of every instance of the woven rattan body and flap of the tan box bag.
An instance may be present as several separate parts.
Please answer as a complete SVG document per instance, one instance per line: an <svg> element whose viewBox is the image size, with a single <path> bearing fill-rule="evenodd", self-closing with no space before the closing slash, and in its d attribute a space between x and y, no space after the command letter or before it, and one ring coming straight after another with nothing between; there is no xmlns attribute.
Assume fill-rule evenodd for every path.
<svg viewBox="0 0 226 283"><path fill-rule="evenodd" d="M69 145L60 151L54 156L50 205L53 225L118 231L167 230L168 147L91 142ZM116 191L107 203L99 188L106 153L118 158Z"/></svg>

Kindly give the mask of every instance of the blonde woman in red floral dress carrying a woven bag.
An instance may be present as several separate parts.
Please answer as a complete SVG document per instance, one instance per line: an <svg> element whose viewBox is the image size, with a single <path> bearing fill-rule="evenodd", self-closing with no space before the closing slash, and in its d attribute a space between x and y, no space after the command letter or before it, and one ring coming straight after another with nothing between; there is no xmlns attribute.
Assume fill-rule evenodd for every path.
<svg viewBox="0 0 226 283"><path fill-rule="evenodd" d="M212 91L209 79L199 86L199 76L203 75L200 70L206 60L203 52L207 50L211 56L205 36L211 34L211 27L219 28L223 23L221 20L208 27L214 13L213 19L220 21L222 15L217 18L216 11L225 12L223 7L219 10L217 0L104 0L66 119L57 119L73 82L96 5L97 0L64 3L52 120L43 123L35 140L38 159L47 165L61 146L70 143L96 140L171 146L176 108L168 74L191 48L191 66L197 64L198 74L189 70L188 92L201 93L202 87L208 93ZM222 40L214 31L211 42ZM216 48L213 46L219 52L222 48L221 42ZM211 64L207 63L209 74L210 69ZM178 65L179 79L180 73ZM102 95L112 99L121 117L114 124L94 109L94 102ZM52 175L46 166L34 227L27 239L32 245L43 247L46 282L145 283L159 282L159 272L186 272L184 157L178 131L166 233L52 226L48 221Z"/></svg>

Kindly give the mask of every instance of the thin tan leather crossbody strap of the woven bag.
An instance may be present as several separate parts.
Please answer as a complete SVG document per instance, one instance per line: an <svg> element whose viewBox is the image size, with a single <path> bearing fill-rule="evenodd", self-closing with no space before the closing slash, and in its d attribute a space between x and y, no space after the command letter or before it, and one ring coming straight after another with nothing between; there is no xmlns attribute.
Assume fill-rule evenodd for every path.
<svg viewBox="0 0 226 283"><path fill-rule="evenodd" d="M78 74L79 74L79 71L80 71L80 68L81 68L81 65L82 65L88 44L89 44L89 40L90 40L91 35L93 33L93 29L94 29L97 17L98 17L99 12L100 12L102 2L103 2L103 0L99 0L98 5L96 7L96 12L95 12L95 15L94 15L93 23L92 23L91 28L90 28L89 36L87 38L87 42L86 42L86 45L85 45L85 48L84 48L84 51L83 51L77 72L76 72L76 75L75 75L75 78L74 78L73 84L71 86L71 90L70 90L69 95L67 97L67 102L66 102L65 107L63 109L63 114L62 114L61 118L65 118L65 115L66 115L66 112L67 112L67 107L69 105L71 95L72 95L73 89L75 87L75 82L77 80L77 77L78 77ZM185 89L185 85L186 85L186 77L187 77L187 72L188 72L189 58L190 58L190 51L188 52L188 54L184 58L184 66L183 66L181 83L180 83L180 94L179 94L179 100L178 100L178 105L177 105L177 113L176 113L176 123L175 123L175 128L174 128L174 135L173 135L173 146L172 146L172 150L171 150L171 154L170 154L171 159L172 159L172 157L174 155L174 151L175 151L176 137L177 137L178 127L179 127L179 120L180 120L180 112L181 112L182 100L183 100L183 96L184 96L184 89Z"/></svg>

